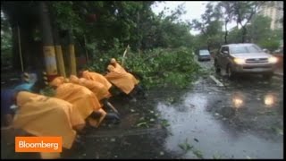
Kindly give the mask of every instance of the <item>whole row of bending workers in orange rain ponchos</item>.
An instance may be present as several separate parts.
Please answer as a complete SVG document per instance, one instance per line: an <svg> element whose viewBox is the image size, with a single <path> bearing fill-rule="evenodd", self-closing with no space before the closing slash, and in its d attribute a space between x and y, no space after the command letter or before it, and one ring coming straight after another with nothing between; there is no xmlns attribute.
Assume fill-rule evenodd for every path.
<svg viewBox="0 0 286 161"><path fill-rule="evenodd" d="M98 127L103 120L120 122L118 110L108 101L114 96L112 89L120 89L131 99L144 91L130 72L113 58L107 66L107 74L80 71L78 77L69 79L56 77L50 82L55 89L54 97L36 94L29 89L18 88L13 95L14 105L12 127L27 131L35 136L62 136L63 148L71 148L77 133L89 124ZM106 113L110 108L114 113ZM119 109L120 111L120 109ZM54 158L41 153L42 157ZM55 156L56 155L56 156Z"/></svg>

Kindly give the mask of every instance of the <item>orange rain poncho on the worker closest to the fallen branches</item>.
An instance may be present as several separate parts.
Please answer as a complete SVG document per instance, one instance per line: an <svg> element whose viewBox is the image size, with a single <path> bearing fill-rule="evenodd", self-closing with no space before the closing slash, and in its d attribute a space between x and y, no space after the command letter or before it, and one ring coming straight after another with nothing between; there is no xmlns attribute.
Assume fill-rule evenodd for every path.
<svg viewBox="0 0 286 161"><path fill-rule="evenodd" d="M108 65L107 70L109 71L105 78L112 82L117 88L122 89L126 94L129 94L134 86L139 83L139 80L126 72L121 65L114 67L113 65Z"/></svg>

